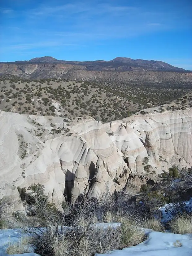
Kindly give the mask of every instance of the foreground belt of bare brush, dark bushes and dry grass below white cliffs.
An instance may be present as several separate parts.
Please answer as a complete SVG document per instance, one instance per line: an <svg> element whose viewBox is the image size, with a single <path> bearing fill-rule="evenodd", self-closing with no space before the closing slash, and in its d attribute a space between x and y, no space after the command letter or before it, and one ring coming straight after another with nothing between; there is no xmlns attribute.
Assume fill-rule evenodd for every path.
<svg viewBox="0 0 192 256"><path fill-rule="evenodd" d="M174 182L175 178L169 175L161 184L143 185L141 193L135 196L126 190L107 192L100 200L85 195L59 207L49 202L41 184L31 184L28 189L18 187L26 211L13 212L12 219L16 227L27 232L30 227L36 252L48 256L94 255L136 245L146 239L142 228L191 233L191 212L183 203L192 188L191 175L191 168L183 169L179 172L180 182ZM168 207L170 204L172 207ZM167 223L161 223L161 206L172 215ZM10 244L8 251L21 252L23 245Z"/></svg>

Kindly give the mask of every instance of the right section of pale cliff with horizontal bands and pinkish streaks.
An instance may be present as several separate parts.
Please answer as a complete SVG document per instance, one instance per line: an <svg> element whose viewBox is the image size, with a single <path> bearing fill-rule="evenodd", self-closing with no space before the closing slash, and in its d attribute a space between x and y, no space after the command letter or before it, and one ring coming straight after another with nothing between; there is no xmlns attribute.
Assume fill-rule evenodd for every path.
<svg viewBox="0 0 192 256"><path fill-rule="evenodd" d="M192 109L189 108L183 111L134 115L105 124L105 127L113 133L111 140L124 153L124 157L128 158L131 170L137 170L134 162L137 156L142 159L149 157L149 164L161 170L159 156L179 168L182 158L182 166L190 167L191 120Z"/></svg>

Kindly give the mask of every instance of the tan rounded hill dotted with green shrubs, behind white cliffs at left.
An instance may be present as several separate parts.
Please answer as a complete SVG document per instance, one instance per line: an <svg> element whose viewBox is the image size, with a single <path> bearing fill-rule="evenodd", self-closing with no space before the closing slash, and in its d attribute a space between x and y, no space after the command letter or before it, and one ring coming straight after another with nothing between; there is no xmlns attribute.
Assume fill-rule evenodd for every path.
<svg viewBox="0 0 192 256"><path fill-rule="evenodd" d="M128 117L139 110L118 91L85 82L63 80L0 82L0 108L22 114L59 117L94 117L104 122ZM111 100L112 99L112 100Z"/></svg>

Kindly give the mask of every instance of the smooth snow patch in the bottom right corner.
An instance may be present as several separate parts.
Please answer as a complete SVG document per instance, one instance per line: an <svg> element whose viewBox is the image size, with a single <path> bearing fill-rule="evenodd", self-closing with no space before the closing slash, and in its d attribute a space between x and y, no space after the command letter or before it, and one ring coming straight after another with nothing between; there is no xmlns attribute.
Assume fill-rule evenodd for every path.
<svg viewBox="0 0 192 256"><path fill-rule="evenodd" d="M149 232L148 239L136 246L109 252L112 256L191 256L192 234ZM104 256L109 254L95 254Z"/></svg>

